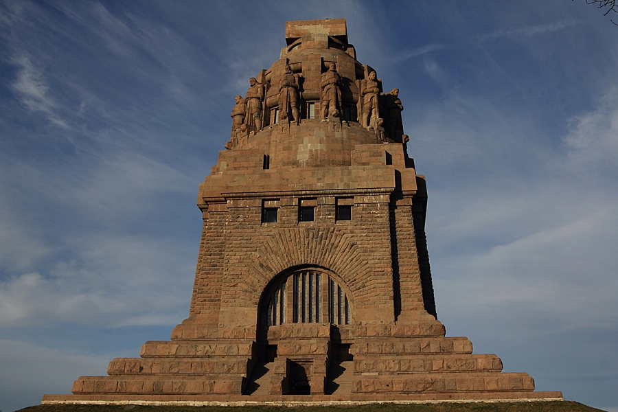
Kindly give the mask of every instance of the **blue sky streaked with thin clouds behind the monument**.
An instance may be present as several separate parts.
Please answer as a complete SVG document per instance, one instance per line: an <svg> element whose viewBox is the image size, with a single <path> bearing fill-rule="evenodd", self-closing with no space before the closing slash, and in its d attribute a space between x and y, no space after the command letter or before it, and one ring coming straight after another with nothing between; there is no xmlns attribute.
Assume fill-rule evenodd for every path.
<svg viewBox="0 0 618 412"><path fill-rule="evenodd" d="M583 0L0 1L0 409L169 339L234 96L340 17L400 89L447 334L618 411L618 27Z"/></svg>

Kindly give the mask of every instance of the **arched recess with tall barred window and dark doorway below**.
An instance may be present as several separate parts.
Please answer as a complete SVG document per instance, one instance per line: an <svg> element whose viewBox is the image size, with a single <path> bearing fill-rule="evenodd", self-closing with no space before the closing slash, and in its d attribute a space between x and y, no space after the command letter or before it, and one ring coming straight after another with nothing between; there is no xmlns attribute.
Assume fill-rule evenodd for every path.
<svg viewBox="0 0 618 412"><path fill-rule="evenodd" d="M353 332L354 301L341 277L315 266L279 273L258 310L257 361L271 393L328 393L329 370L352 360Z"/></svg>

